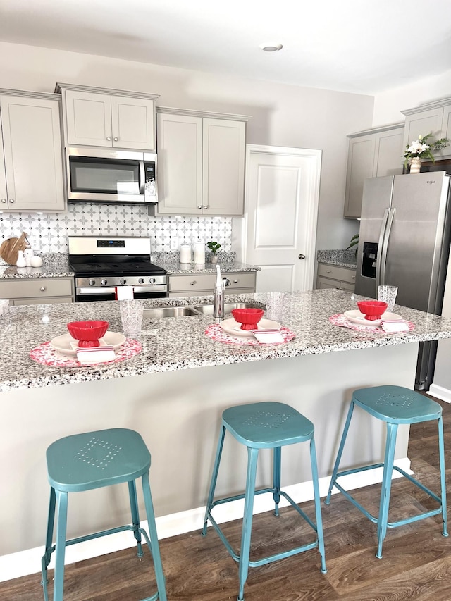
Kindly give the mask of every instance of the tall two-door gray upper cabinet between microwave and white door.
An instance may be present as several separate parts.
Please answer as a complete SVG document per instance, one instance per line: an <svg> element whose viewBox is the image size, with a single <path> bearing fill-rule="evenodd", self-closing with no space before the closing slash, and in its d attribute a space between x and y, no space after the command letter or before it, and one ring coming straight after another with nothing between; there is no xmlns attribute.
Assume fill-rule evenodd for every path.
<svg viewBox="0 0 451 601"><path fill-rule="evenodd" d="M157 107L158 213L242 215L246 121Z"/></svg>

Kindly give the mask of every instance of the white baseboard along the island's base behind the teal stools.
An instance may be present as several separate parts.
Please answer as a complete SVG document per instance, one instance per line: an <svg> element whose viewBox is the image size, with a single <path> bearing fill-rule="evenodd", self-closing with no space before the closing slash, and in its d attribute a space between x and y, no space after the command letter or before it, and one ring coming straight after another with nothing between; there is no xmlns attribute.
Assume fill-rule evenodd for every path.
<svg viewBox="0 0 451 601"><path fill-rule="evenodd" d="M404 469L407 473L412 473L410 470L410 459L408 457L397 459L395 465ZM393 478L400 477L400 474L395 471ZM354 490L356 488L362 488L363 486L380 483L381 481L382 468L362 472L358 475L350 474L350 476L344 476L340 483L345 490ZM320 478L319 493L321 497L326 497L329 482L329 476ZM311 481L287 486L284 487L283 490L285 490L296 503L302 503L313 499L313 487ZM338 491L334 491L333 494L336 492ZM282 498L280 500L280 507L285 507L287 505L288 501ZM218 523L240 519L242 517L243 507L244 501L242 500L218 505L215 509L215 519ZM255 497L254 514L268 512L271 511L271 509L273 509L271 495L258 495ZM157 518L156 528L159 533L159 539L161 540L163 538L185 534L187 532L200 532L204 522L204 514L205 507L197 507L186 512L179 512L177 514L170 514ZM143 521L142 526L147 528L147 521ZM133 536L130 535L130 532L120 532L105 538L88 540L85 543L66 547L66 564L73 564L75 562L80 562L83 559L99 557L99 555L121 551L134 546L135 542ZM30 574L37 574L41 566L43 554L44 547L35 547L34 549L27 549L25 551L1 556L0 582L12 580L13 578L20 578L21 576L28 576ZM53 567L53 561L51 562L50 567Z"/></svg>

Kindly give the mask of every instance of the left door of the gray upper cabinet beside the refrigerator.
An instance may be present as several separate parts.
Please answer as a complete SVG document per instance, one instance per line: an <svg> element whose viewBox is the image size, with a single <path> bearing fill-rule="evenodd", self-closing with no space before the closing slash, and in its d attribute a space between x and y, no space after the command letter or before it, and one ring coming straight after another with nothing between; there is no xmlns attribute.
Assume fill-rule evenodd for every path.
<svg viewBox="0 0 451 601"><path fill-rule="evenodd" d="M376 135L350 139L347 156L345 217L359 218L362 210L364 181L373 177Z"/></svg>

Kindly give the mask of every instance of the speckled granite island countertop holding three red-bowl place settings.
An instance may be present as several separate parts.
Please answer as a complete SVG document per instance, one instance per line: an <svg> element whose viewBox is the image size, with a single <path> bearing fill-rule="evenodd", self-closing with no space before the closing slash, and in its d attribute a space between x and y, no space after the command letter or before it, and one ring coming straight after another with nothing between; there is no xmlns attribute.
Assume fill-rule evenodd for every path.
<svg viewBox="0 0 451 601"><path fill-rule="evenodd" d="M271 294L271 293L268 293ZM362 297L357 297L357 299ZM228 302L254 301L265 306L268 295L230 295ZM211 304L212 297L154 299L144 306ZM400 345L451 337L451 319L395 306L395 312L413 321L411 333L388 335L367 333L333 326L328 318L355 308L349 292L313 290L285 296L283 314L278 321L295 333L283 345L230 345L215 342L205 335L211 316L187 316L143 320L140 336L142 352L117 364L56 368L38 364L30 350L42 342L67 333L66 323L75 320L105 319L109 330L121 332L117 302L13 306L0 317L0 390L36 388L89 380L137 376L159 371L260 361L278 357L297 357L366 347Z"/></svg>

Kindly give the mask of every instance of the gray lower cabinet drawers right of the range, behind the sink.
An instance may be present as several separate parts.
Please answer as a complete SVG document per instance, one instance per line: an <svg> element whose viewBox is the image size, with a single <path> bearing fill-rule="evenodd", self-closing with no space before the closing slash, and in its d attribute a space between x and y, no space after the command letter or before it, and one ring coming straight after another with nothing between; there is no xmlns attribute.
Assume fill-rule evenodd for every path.
<svg viewBox="0 0 451 601"><path fill-rule="evenodd" d="M228 278L226 294L240 295L255 292L255 271L224 272ZM216 273L190 273L169 275L169 297L197 297L213 295Z"/></svg>

